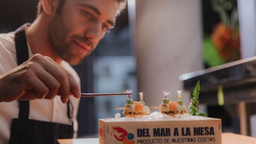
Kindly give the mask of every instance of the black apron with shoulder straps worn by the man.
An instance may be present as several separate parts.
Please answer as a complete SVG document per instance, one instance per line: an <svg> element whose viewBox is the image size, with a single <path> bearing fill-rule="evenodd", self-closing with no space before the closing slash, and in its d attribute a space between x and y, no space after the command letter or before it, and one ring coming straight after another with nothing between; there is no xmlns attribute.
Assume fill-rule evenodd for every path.
<svg viewBox="0 0 256 144"><path fill-rule="evenodd" d="M29 59L24 25L16 30L15 47L17 63L20 65ZM73 125L31 120L29 119L29 101L19 101L19 103L19 118L12 120L9 144L57 144L57 139L73 138ZM73 107L70 102L67 106L67 116L71 120Z"/></svg>

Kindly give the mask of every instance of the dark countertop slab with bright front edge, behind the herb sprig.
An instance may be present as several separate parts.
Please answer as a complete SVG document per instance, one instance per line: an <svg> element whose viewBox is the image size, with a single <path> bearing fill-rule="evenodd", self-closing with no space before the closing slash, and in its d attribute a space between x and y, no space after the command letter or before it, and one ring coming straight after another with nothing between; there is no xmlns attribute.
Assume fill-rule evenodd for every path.
<svg viewBox="0 0 256 144"><path fill-rule="evenodd" d="M215 90L219 85L233 87L256 83L256 57L183 74L180 80L186 90L192 90L200 81L203 91Z"/></svg>

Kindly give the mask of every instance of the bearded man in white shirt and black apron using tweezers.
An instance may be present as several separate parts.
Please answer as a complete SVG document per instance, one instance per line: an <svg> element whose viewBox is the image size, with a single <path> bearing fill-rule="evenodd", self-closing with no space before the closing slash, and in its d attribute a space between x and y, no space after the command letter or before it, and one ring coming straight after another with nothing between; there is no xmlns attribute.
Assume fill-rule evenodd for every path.
<svg viewBox="0 0 256 144"><path fill-rule="evenodd" d="M125 3L40 0L31 25L0 34L0 144L73 137L81 94L69 64L95 49Z"/></svg>

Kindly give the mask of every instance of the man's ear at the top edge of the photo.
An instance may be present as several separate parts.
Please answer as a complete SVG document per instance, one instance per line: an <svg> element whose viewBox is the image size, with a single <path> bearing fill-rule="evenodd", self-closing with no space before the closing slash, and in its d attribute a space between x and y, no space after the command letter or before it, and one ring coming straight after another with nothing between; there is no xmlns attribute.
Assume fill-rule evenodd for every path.
<svg viewBox="0 0 256 144"><path fill-rule="evenodd" d="M44 12L46 14L54 14L58 8L59 0L41 0Z"/></svg>

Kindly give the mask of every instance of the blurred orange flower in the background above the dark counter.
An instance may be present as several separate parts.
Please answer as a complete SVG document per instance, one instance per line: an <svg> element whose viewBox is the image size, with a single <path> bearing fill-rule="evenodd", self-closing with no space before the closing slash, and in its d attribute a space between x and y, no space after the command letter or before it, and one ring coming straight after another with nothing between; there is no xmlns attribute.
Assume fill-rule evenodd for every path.
<svg viewBox="0 0 256 144"><path fill-rule="evenodd" d="M218 55L225 61L240 59L239 30L219 23L212 32L211 39ZM235 57L235 58L234 58Z"/></svg>

